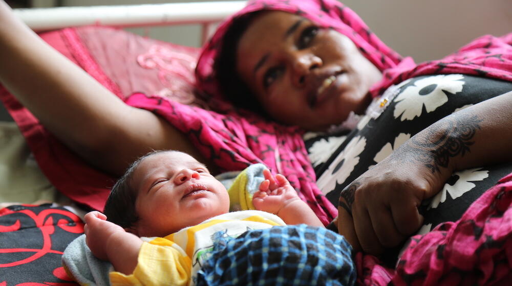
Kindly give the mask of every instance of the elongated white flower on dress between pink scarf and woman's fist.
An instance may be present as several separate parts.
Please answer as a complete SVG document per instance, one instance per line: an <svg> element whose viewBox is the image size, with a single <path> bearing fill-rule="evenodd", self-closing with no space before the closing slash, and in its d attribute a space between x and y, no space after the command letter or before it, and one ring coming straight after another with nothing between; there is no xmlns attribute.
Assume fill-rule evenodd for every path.
<svg viewBox="0 0 512 286"><path fill-rule="evenodd" d="M366 147L366 138L356 136L350 140L347 147L340 152L336 159L329 165L320 178L316 181L318 187L325 195L336 187L336 183L343 184L354 171L355 165L359 163L359 154Z"/></svg>

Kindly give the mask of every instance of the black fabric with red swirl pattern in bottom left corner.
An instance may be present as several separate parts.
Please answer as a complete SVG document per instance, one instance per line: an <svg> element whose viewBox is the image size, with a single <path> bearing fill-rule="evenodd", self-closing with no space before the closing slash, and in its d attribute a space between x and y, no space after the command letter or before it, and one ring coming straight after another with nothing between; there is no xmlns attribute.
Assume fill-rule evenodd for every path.
<svg viewBox="0 0 512 286"><path fill-rule="evenodd" d="M0 285L78 285L66 274L60 258L81 233L80 218L63 207L0 209Z"/></svg>

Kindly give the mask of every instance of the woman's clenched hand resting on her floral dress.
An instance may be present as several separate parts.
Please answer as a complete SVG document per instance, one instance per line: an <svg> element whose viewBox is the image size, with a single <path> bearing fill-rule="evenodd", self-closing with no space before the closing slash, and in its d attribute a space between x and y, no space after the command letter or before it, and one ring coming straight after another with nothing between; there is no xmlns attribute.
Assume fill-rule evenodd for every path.
<svg viewBox="0 0 512 286"><path fill-rule="evenodd" d="M398 245L423 223L418 206L439 192L451 174L445 173L439 176L397 154L388 157L342 191L339 233L355 250L375 255Z"/></svg>

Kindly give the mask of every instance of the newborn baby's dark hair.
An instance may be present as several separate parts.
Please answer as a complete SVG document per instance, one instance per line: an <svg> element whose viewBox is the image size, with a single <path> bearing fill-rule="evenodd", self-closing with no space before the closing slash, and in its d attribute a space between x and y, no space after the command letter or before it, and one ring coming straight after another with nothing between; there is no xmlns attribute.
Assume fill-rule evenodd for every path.
<svg viewBox="0 0 512 286"><path fill-rule="evenodd" d="M129 228L139 220L137 210L135 209L139 190L134 189L132 186L133 174L145 158L161 152L170 152L170 150L156 150L139 157L126 169L121 178L117 180L103 209L103 213L108 221L123 228Z"/></svg>

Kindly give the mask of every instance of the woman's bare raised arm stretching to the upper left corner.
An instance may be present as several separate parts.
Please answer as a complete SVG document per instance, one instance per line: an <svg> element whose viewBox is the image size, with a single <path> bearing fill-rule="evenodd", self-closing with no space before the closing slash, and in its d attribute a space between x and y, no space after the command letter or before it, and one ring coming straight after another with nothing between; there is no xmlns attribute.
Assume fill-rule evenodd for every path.
<svg viewBox="0 0 512 286"><path fill-rule="evenodd" d="M0 0L0 82L66 146L97 168L122 174L151 150L204 161L154 113L130 107L41 40Z"/></svg>

